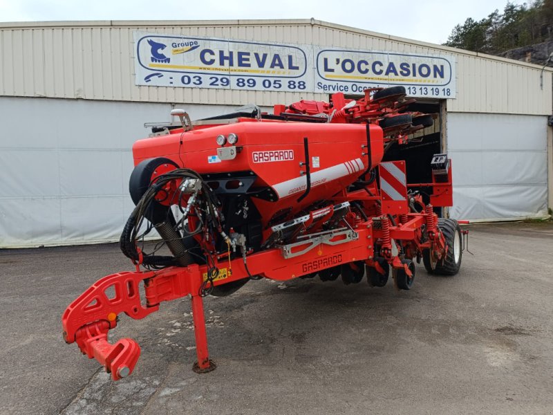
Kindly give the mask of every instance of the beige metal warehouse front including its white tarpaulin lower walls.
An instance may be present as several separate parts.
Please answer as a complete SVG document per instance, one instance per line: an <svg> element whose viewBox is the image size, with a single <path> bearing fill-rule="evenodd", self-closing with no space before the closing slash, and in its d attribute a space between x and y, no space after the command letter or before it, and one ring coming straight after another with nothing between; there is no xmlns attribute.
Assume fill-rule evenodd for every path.
<svg viewBox="0 0 553 415"><path fill-rule="evenodd" d="M147 134L146 130L137 130L137 126L141 127L146 121L167 120L171 106L184 105L189 109L191 116L200 118L198 115L220 113L222 107L219 106L247 103L272 106L275 103L286 104L300 99L328 100L328 95L320 93L135 85L133 33L136 30L283 44L313 44L329 48L388 50L422 55L442 52L455 55L458 94L456 99L449 99L445 103L448 149L454 160L459 159L454 163L453 170L455 183L459 183L455 196L456 206L452 210L453 216L505 219L540 216L547 211L547 194L549 193L550 198L553 194L552 179L547 178L547 174L551 176L552 171L552 150L549 149L548 152L547 149L547 145L551 146L551 127L547 127L547 116L552 113L552 71L548 68L543 73L541 87L541 68L532 64L371 33L313 19L0 24L2 121L5 125L28 124L29 127L28 131L20 134L18 138L6 131L2 133L0 158L6 161L6 165L10 163L13 165L12 168L19 168L18 172L8 173L5 170L3 176L9 174L10 177L24 177L29 169L29 166L25 165L26 161L32 165L42 162L42 168L48 172L45 176L49 175L52 180L57 181L55 186L41 187L43 191L38 194L37 188L29 185L26 180L21 180L17 188L6 184L0 185L0 210L3 211L4 223L0 222L0 234L3 235L0 237L0 246L84 243L116 238L126 210L130 206L126 195L126 180L132 168L130 144L136 138ZM57 99L67 102L58 103ZM79 100L78 111L77 106L71 104L74 100ZM117 113L118 102L126 102L120 105L120 122L111 120L111 130L108 131L106 126L102 125L102 120L106 117L106 111ZM104 103L106 107L100 109L99 103ZM33 111L27 112L26 109L29 107L32 107ZM194 113L193 109L197 113ZM478 117L471 117L471 114L477 114ZM59 122L60 118L64 122ZM37 120L37 124L34 124L33 120ZM474 122L474 128L466 128L467 123ZM532 136L525 138L521 136L525 129L514 129L515 137L515 133L510 132L512 129L505 129L506 122L528 125L527 131L532 131ZM115 130L114 123L119 124ZM86 129L86 139L79 134L79 129ZM467 140L467 133L478 136L478 140ZM29 138L29 134L32 134L32 138ZM117 135L124 138L120 139ZM71 136L74 137L73 142L69 139ZM112 137L111 140L109 136ZM486 141L485 138L489 136L494 136L494 140ZM501 136L505 136L505 140L502 140ZM527 140L527 145L521 143L521 140ZM482 142L493 142L494 145L482 146ZM509 144L504 145L505 142ZM42 151L42 157L29 156L30 152L37 151ZM102 203L97 203L95 209L86 208L86 203L73 203L75 200L83 201L87 198L101 199L106 194L100 188L86 186L90 175L82 177L81 188L68 185L66 182L70 179L59 176L59 172L67 171L67 166L60 161L59 154L65 154L67 151L73 154L71 163L75 165L82 165L86 160L91 160L88 156L92 153L89 152L96 151L95 154L100 160L93 169L97 168L98 172L102 163L108 163L102 154L118 152L121 156L118 160L125 167L112 172L111 181L116 181L120 185L109 187L109 194L120 203L121 214L113 216L113 205L110 206L109 212L98 212L98 209L102 210ZM99 154L98 151L104 152ZM479 177L474 177L474 160L478 159L479 166L485 166L487 163L497 163L498 160L512 163L514 156L515 164L503 168L504 176L492 178L482 171ZM17 167L14 160L20 160L21 165ZM509 176L509 169L522 165L539 168L519 168L518 176ZM40 174L36 169L34 171L35 174ZM520 176L521 171L525 176ZM522 182L515 183L518 179L513 177ZM108 177L103 179L110 180ZM482 189L488 188L491 195L494 193L493 190L499 190L500 187L509 190L518 184L525 186L525 192L532 198L532 203L516 206L516 190L510 190L507 194L499 192L496 196L489 196L489 209L480 210L478 207L480 199L486 197L482 194L479 199L478 194L482 193ZM49 189L48 194L45 194L46 188ZM26 225L21 223L28 221L37 209L40 209L41 203L43 209L46 209L45 203L51 205L47 209L50 213L46 215L50 218L50 223L41 225L41 221L35 223L35 219L31 219L32 226L29 225L28 229L21 232L21 228L26 228ZM498 209L498 205L505 203L507 208ZM512 203L510 207L509 203ZM64 205L71 206L67 208L67 212ZM13 209L17 207L19 211L14 212ZM56 210L58 214L54 214ZM81 232L75 230L76 223L68 225L65 219L79 210L77 216L80 216L83 223ZM106 225L107 216L113 218L109 225Z"/></svg>

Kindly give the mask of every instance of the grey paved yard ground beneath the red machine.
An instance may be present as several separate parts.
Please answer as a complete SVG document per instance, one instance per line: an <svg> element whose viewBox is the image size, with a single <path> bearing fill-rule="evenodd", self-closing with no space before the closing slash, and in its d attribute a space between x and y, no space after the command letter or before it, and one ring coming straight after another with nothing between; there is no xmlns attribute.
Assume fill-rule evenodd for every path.
<svg viewBox="0 0 553 415"><path fill-rule="evenodd" d="M142 347L112 382L62 340L64 308L131 268L116 245L0 251L0 414L552 414L553 225L470 229L456 277L411 291L253 281L205 301L218 368L191 371L188 299L112 339Z"/></svg>

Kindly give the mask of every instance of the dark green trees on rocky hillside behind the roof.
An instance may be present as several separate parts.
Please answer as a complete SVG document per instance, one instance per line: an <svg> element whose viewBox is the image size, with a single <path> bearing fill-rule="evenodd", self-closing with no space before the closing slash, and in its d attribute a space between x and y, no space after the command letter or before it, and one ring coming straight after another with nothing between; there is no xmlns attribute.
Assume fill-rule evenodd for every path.
<svg viewBox="0 0 553 415"><path fill-rule="evenodd" d="M498 54L553 39L553 0L507 3L480 21L467 19L451 31L445 46Z"/></svg>

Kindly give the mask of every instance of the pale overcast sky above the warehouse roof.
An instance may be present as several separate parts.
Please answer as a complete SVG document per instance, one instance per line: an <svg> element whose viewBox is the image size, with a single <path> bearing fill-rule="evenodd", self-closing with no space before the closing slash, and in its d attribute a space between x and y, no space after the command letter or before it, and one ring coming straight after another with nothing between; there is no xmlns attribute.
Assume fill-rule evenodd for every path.
<svg viewBox="0 0 553 415"><path fill-rule="evenodd" d="M521 0L512 3L522 4ZM441 44L507 0L0 0L0 21L310 19Z"/></svg>

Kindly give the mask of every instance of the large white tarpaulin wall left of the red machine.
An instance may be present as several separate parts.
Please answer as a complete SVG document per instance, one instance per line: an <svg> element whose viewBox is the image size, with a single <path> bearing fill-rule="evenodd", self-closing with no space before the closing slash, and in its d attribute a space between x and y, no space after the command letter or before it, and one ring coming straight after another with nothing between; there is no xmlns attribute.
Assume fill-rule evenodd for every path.
<svg viewBox="0 0 553 415"><path fill-rule="evenodd" d="M229 107L187 106L202 118ZM0 248L114 241L134 208L132 145L170 104L0 98Z"/></svg>

